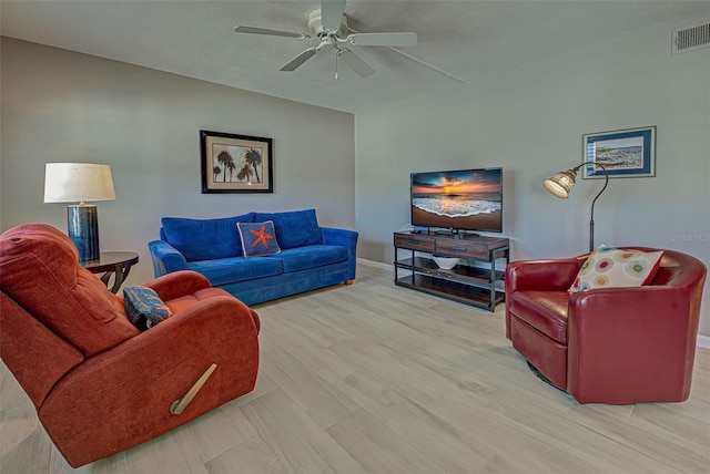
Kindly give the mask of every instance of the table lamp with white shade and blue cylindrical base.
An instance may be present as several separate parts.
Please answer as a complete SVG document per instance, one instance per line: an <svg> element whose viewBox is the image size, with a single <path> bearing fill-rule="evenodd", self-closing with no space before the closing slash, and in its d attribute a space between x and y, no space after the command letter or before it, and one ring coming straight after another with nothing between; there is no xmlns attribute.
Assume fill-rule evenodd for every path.
<svg viewBox="0 0 710 474"><path fill-rule="evenodd" d="M79 261L95 260L99 250L99 210L87 202L115 200L109 165L47 163L44 203L75 203L67 207L67 230L79 250Z"/></svg>

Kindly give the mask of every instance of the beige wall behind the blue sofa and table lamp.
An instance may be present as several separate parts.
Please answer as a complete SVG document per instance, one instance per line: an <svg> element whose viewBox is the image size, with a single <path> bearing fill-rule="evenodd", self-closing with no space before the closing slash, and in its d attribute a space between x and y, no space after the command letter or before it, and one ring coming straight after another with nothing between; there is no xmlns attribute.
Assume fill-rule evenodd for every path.
<svg viewBox="0 0 710 474"><path fill-rule="evenodd" d="M23 41L1 43L2 230L67 229L43 204L44 163L111 165L118 199L98 203L101 248L133 250L130 284L152 278L162 216L314 207L355 228L354 116ZM201 194L200 130L274 140L273 194Z"/></svg>

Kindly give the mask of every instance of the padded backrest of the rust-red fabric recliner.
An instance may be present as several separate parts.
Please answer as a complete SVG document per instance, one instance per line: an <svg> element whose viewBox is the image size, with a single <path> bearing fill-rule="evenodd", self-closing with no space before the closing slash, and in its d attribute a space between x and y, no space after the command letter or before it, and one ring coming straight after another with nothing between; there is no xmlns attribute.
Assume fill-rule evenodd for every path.
<svg viewBox="0 0 710 474"><path fill-rule="evenodd" d="M0 286L54 333L93 356L139 334L123 301L79 265L69 237L26 224L0 237Z"/></svg>

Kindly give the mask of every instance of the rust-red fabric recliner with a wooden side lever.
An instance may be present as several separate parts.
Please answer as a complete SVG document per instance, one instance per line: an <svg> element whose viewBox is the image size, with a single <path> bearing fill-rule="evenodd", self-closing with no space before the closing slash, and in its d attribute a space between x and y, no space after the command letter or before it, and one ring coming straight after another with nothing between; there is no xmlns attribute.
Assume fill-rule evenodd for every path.
<svg viewBox="0 0 710 474"><path fill-rule="evenodd" d="M251 392L257 315L192 271L152 287L174 316L140 332L58 229L0 236L0 356L73 467Z"/></svg>

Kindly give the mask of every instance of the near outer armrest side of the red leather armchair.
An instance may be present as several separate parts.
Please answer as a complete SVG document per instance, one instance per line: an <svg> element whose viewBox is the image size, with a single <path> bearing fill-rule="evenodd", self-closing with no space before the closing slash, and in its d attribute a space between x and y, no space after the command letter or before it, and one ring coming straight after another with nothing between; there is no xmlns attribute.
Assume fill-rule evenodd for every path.
<svg viewBox="0 0 710 474"><path fill-rule="evenodd" d="M605 288L570 295L567 390L580 403L637 402L668 390L684 400L698 333L692 301L670 286ZM672 393L671 393L672 392ZM633 394L637 394L636 396Z"/></svg>

